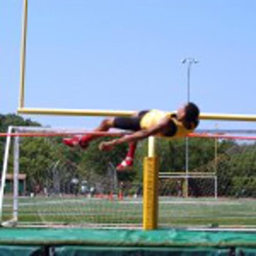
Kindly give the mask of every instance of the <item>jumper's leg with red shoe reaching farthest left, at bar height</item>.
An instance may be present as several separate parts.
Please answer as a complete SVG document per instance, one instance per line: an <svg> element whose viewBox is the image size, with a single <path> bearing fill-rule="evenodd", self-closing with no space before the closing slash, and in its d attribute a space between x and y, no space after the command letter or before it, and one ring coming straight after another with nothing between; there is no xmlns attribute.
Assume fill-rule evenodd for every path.
<svg viewBox="0 0 256 256"><path fill-rule="evenodd" d="M108 118L104 119L100 125L94 129L94 132L106 132L109 131L111 127L113 127L114 124L114 118ZM84 135L82 137L74 136L72 138L64 138L63 143L65 143L67 146L74 147L76 145L80 145L82 148L87 148L89 145L89 142L98 138L98 135Z"/></svg>

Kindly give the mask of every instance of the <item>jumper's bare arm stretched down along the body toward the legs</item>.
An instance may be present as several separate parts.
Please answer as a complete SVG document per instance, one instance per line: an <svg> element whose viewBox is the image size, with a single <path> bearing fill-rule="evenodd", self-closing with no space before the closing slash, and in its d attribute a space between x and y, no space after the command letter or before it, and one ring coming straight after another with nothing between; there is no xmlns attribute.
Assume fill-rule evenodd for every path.
<svg viewBox="0 0 256 256"><path fill-rule="evenodd" d="M151 129L140 130L131 135L125 135L125 136L115 139L115 140L103 141L99 145L99 150L101 150L101 151L112 150L112 148L115 145L125 143L125 142L128 142L128 143L137 142L137 141L145 139L149 136L156 135L156 134L164 131L166 129L166 126L168 125L168 123L169 123L169 118L163 118L163 120L159 124L155 125Z"/></svg>

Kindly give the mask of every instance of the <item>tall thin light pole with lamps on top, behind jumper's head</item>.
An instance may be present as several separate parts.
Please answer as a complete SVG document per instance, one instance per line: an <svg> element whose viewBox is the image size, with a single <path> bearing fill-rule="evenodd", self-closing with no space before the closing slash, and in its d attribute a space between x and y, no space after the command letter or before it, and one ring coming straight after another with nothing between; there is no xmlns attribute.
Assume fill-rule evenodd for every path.
<svg viewBox="0 0 256 256"><path fill-rule="evenodd" d="M190 71L193 64L197 64L198 60L195 58L184 58L181 60L182 64L187 64L187 102L190 101ZM188 137L185 139L185 169L186 169L186 183L185 183L185 196L188 196Z"/></svg>

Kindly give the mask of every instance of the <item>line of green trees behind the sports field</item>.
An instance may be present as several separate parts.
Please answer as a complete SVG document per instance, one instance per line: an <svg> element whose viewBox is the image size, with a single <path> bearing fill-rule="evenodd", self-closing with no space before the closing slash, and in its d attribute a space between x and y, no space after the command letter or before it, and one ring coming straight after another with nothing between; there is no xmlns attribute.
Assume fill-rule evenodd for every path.
<svg viewBox="0 0 256 256"><path fill-rule="evenodd" d="M15 114L0 115L0 131L8 126L41 126ZM111 152L99 152L98 144L104 137L93 141L87 151L69 148L60 137L20 138L19 172L27 175L27 191L72 193L74 187L94 187L99 193L142 193L143 158L147 155L147 141L139 142L134 169L118 173L115 166L126 154L127 145L118 145ZM158 139L160 172L184 172L185 140ZM0 164L3 166L5 138L0 138ZM13 171L13 154L8 172ZM218 195L223 197L256 197L256 144L254 141L189 139L189 172L217 173ZM160 196L180 195L182 179L160 180ZM211 196L214 180L189 179L189 195ZM68 191L68 192L67 192Z"/></svg>

